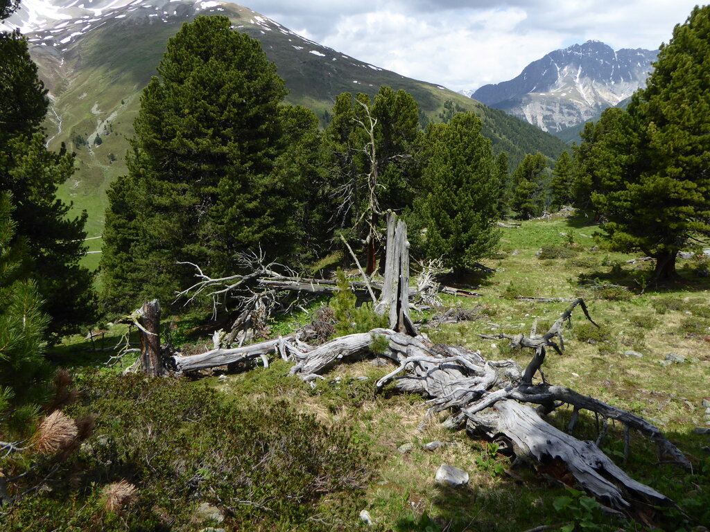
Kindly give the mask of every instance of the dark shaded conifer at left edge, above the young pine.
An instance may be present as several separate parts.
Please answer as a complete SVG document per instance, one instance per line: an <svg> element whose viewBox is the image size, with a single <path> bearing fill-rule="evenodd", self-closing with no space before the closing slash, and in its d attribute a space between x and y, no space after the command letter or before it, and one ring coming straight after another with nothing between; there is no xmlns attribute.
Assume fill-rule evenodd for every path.
<svg viewBox="0 0 710 532"><path fill-rule="evenodd" d="M28 248L24 267L45 299L56 339L94 321L94 294L92 275L79 265L86 215L67 218L70 206L56 198L74 157L63 146L60 153L45 148L46 94L25 38L0 33L0 191L13 194L16 233Z"/></svg>

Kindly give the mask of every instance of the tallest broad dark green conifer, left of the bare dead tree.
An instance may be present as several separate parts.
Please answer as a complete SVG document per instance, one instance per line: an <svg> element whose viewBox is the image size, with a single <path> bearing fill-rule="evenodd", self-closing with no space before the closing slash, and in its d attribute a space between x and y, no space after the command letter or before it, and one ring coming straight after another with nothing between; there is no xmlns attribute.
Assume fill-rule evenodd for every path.
<svg viewBox="0 0 710 532"><path fill-rule="evenodd" d="M129 174L109 192L109 309L171 301L193 273L176 262L224 275L238 271L241 252L293 250L293 187L273 173L285 93L258 40L229 18L197 17L168 41L141 96Z"/></svg>

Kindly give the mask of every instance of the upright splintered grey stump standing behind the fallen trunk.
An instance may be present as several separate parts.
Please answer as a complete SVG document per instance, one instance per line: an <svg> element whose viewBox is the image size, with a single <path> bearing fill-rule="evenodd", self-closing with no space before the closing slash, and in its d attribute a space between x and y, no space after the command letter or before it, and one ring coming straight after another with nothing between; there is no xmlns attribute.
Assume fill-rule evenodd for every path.
<svg viewBox="0 0 710 532"><path fill-rule="evenodd" d="M385 278L379 304L375 312L390 318L390 328L417 336L417 329L409 314L409 242L407 224L394 213L387 216L387 248Z"/></svg>

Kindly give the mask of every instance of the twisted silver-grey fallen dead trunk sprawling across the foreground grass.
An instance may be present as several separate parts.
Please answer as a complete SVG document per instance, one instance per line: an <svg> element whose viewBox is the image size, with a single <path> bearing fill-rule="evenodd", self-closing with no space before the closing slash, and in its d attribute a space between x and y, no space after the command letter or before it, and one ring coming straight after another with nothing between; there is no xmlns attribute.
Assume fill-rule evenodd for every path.
<svg viewBox="0 0 710 532"><path fill-rule="evenodd" d="M235 350L212 350L204 355L175 357L174 360L175 367L188 370L278 353L295 362L292 375L310 382L322 378L324 372L339 362L373 355L371 345L381 336L388 340L388 348L378 356L393 362L395 368L376 383L376 389L392 382L397 389L424 394L430 398L427 402L432 411L452 411L449 426L466 426L472 433L482 433L488 438L503 436L512 443L518 456L536 464L555 460L564 462L579 486L614 511L633 516L653 505L672 506L674 503L663 494L626 475L595 443L580 441L559 431L547 423L537 409L525 405L540 404L552 411L568 404L574 407L573 421L581 410L594 412L602 419L616 420L623 423L625 429L633 429L655 440L663 460L689 466L682 452L643 418L566 387L532 383L532 377L544 360L545 348L551 345L557 350L564 348L562 324L578 306L586 314L584 301L574 301L550 330L541 335L533 331L529 337L495 336L534 350L532 361L525 370L513 360L486 360L479 352L453 345L433 345L427 338L386 328L342 336L317 348L300 341L297 336L290 336ZM591 321L589 316L587 318ZM559 340L559 345L552 343L553 338ZM573 425L571 422L570 431Z"/></svg>

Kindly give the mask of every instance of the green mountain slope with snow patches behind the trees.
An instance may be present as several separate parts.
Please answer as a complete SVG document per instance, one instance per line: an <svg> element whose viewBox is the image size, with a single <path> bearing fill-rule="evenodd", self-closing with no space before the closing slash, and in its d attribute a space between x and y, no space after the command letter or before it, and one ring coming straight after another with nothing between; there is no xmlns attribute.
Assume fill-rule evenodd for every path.
<svg viewBox="0 0 710 532"><path fill-rule="evenodd" d="M104 192L126 171L124 157L141 90L155 74L168 39L182 23L200 14L229 16L237 31L260 40L290 90L286 101L310 107L322 121L338 94L373 95L388 85L413 94L422 117L430 121L439 120L447 100L474 111L494 149L507 151L511 165L525 153L541 151L555 158L564 149L552 135L502 111L325 48L243 6L190 0L133 3L98 18L84 16L28 35L31 54L53 99L47 124L50 148L65 142L77 153L78 170L60 194L76 208L87 209L89 236L100 235ZM98 26L89 28L92 23ZM100 240L91 243L92 250L100 248Z"/></svg>

